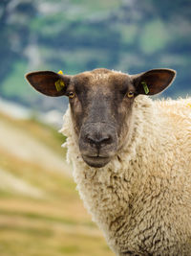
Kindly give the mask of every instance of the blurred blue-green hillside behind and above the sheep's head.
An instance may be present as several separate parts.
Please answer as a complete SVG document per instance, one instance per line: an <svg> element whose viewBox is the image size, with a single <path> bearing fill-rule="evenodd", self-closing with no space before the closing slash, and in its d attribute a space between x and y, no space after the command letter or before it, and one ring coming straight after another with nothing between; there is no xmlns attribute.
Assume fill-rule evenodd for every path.
<svg viewBox="0 0 191 256"><path fill-rule="evenodd" d="M0 94L36 109L63 108L62 100L47 100L24 81L39 69L169 67L178 77L164 95L191 92L190 0L2 0L0 30Z"/></svg>

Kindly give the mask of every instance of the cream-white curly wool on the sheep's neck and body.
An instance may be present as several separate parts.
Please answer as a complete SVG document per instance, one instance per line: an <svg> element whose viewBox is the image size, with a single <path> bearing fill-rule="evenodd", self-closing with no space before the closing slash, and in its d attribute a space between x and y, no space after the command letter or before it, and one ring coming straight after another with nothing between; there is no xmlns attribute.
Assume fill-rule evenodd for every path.
<svg viewBox="0 0 191 256"><path fill-rule="evenodd" d="M190 104L138 96L130 137L99 169L80 155L70 107L64 116L77 190L117 255L191 255Z"/></svg>

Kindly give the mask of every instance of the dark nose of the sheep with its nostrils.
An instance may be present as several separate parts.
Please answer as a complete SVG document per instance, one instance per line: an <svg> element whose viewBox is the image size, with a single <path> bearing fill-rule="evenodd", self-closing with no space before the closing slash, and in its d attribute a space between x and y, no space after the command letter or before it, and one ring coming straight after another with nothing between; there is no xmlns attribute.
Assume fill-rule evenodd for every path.
<svg viewBox="0 0 191 256"><path fill-rule="evenodd" d="M112 136L110 134L105 135L97 135L97 134L88 134L87 141L96 146L96 148L100 148L102 145L111 144L112 143Z"/></svg>

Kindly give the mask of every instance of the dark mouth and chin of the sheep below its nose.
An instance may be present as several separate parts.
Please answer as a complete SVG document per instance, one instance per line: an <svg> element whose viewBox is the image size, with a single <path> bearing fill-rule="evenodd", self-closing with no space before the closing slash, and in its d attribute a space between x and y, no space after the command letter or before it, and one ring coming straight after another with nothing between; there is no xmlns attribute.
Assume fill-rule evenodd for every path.
<svg viewBox="0 0 191 256"><path fill-rule="evenodd" d="M109 163L111 157L109 156L90 156L90 155L82 155L84 162L90 167L101 168Z"/></svg>

